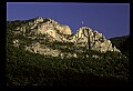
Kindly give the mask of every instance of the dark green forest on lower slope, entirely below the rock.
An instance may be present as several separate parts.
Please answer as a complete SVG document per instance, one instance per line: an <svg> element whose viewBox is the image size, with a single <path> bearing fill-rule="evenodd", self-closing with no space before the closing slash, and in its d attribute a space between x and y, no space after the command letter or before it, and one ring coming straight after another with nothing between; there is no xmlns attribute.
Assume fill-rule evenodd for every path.
<svg viewBox="0 0 133 91"><path fill-rule="evenodd" d="M79 81L88 80L89 82L95 78L127 80L127 59L119 60L114 57L110 60L108 54L105 58L101 60L65 58L62 60L32 54L10 47L7 54L7 84L70 85L71 83L71 85L76 85Z"/></svg>

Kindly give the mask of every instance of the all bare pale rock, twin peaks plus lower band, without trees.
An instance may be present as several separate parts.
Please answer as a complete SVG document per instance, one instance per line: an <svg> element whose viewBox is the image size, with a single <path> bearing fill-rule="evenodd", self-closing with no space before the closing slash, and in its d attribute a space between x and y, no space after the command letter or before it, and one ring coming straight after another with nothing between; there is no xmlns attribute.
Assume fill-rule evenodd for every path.
<svg viewBox="0 0 133 91"><path fill-rule="evenodd" d="M119 49L116 49L115 47L112 47L111 41L105 39L105 37L102 36L102 33L99 33L98 31L92 30L89 27L80 28L78 32L72 36L72 32L69 26L60 24L57 21L51 20L49 18L31 19L29 20L28 23L21 27L17 27L16 30L17 30L14 32L16 34L19 33L27 38L31 38L33 40L39 39L40 41L40 38L41 38L42 41L45 41L45 39L48 39L49 41L47 42L49 43L53 43L54 41L73 43L70 48L68 48L65 44L59 46L59 47L68 48L68 50L72 49L75 52L78 52L78 50L82 51L80 50L81 47L84 47L90 50L101 51L101 52L106 52L106 51L120 52ZM18 41L20 42L20 40ZM13 41L16 47L20 46L18 41ZM76 57L76 54L74 53L73 54L66 53L66 52L62 53L58 49L53 50L49 47L45 47L44 44L40 44L40 42L32 43L29 47L25 46L25 49L34 53L50 54L52 57L57 57L57 55Z"/></svg>

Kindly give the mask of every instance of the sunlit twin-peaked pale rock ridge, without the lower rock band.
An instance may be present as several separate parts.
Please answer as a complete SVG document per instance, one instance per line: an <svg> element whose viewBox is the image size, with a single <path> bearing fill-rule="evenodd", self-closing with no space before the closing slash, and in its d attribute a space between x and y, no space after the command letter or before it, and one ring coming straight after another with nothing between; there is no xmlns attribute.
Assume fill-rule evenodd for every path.
<svg viewBox="0 0 133 91"><path fill-rule="evenodd" d="M31 33L34 33L34 36L49 34L54 40L74 42L76 46L86 47L90 50L120 52L115 47L112 47L111 41L105 39L102 33L89 27L81 27L74 36L71 36L72 32L69 26L62 26L50 18L38 17L34 21L29 21L28 23L17 28L23 36L25 36L25 32L29 32L28 36ZM70 36L70 38L65 38L63 34Z"/></svg>

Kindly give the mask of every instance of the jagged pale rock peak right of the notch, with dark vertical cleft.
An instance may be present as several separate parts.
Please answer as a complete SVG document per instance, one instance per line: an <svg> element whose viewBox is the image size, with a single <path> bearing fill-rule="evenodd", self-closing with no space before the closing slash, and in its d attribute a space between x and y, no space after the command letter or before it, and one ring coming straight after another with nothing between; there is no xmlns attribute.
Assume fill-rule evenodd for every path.
<svg viewBox="0 0 133 91"><path fill-rule="evenodd" d="M111 41L105 39L105 37L102 36L102 33L93 31L91 28L88 27L80 28L78 33L73 37L73 41L74 40L76 40L76 42L88 42L88 46L90 43L91 50L99 50L101 52L105 51L120 52L120 50L117 50L115 47L112 47Z"/></svg>

